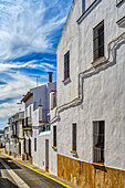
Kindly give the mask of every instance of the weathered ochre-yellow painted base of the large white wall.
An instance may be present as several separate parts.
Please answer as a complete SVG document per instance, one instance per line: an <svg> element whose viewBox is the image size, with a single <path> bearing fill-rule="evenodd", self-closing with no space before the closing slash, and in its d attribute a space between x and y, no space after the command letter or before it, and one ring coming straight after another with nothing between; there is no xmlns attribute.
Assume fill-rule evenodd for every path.
<svg viewBox="0 0 125 188"><path fill-rule="evenodd" d="M125 188L125 171L58 155L58 176L84 188Z"/></svg>

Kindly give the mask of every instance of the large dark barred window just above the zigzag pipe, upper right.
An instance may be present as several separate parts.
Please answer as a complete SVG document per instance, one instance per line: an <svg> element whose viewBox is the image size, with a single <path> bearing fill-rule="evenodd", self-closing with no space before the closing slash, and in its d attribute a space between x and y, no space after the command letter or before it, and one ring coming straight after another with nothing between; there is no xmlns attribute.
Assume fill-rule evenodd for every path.
<svg viewBox="0 0 125 188"><path fill-rule="evenodd" d="M94 29L94 61L104 56L104 21Z"/></svg>

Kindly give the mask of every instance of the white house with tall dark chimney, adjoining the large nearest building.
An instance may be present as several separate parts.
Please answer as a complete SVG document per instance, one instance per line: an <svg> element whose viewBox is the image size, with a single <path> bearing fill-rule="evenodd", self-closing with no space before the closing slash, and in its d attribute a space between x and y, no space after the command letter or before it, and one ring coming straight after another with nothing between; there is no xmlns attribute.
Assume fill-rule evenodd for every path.
<svg viewBox="0 0 125 188"><path fill-rule="evenodd" d="M33 165L43 169L49 169L49 152L50 139L50 91L56 90L56 83L52 82L52 73L49 74L48 84L31 88L22 98L25 104L24 109L24 138L27 159L31 159ZM28 119L28 121L27 121ZM49 153L46 154L49 156ZM46 159L46 160L45 160Z"/></svg>

